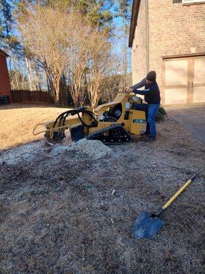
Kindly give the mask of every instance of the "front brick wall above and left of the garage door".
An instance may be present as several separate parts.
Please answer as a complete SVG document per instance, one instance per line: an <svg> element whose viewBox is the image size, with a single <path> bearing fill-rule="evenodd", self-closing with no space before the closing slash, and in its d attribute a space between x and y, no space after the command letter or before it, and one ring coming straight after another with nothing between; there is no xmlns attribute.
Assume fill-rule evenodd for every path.
<svg viewBox="0 0 205 274"><path fill-rule="evenodd" d="M205 4L148 0L148 25L150 70L162 88L163 56L205 53Z"/></svg>

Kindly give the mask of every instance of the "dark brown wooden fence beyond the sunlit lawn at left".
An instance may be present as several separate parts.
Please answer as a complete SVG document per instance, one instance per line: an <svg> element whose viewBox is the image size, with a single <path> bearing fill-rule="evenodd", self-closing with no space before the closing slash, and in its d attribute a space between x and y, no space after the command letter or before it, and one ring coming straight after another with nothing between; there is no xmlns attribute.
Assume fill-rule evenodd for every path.
<svg viewBox="0 0 205 274"><path fill-rule="evenodd" d="M40 90L11 90L12 103L51 104L53 99L49 92Z"/></svg>

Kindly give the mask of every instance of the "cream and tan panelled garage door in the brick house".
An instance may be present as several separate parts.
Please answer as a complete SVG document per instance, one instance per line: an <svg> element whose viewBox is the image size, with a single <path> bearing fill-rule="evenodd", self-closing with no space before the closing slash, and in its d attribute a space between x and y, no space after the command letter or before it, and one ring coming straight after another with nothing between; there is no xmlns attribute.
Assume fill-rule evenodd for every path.
<svg viewBox="0 0 205 274"><path fill-rule="evenodd" d="M164 105L205 103L205 56L163 62Z"/></svg>

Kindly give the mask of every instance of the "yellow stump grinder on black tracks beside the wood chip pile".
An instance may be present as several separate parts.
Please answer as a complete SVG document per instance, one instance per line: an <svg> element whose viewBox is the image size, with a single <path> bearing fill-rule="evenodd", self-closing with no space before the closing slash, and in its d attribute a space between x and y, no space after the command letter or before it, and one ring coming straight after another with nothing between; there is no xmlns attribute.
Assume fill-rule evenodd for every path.
<svg viewBox="0 0 205 274"><path fill-rule="evenodd" d="M78 108L61 113L55 121L38 124L33 129L37 135L45 132L47 140L63 140L65 130L70 129L74 142L82 138L100 140L105 145L118 145L131 141L131 134L139 135L146 123L147 105L134 94L118 93L111 103L92 107ZM44 125L43 130L37 127Z"/></svg>

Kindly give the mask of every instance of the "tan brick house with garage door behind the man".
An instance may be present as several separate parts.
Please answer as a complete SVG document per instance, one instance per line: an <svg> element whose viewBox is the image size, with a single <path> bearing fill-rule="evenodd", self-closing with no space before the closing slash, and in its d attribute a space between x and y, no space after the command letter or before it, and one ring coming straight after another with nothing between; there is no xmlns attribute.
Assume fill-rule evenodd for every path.
<svg viewBox="0 0 205 274"><path fill-rule="evenodd" d="M205 103L205 1L134 0L133 84L156 71L163 105Z"/></svg>

